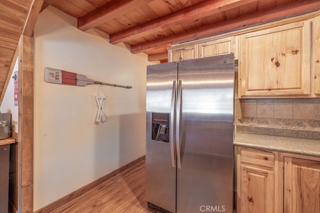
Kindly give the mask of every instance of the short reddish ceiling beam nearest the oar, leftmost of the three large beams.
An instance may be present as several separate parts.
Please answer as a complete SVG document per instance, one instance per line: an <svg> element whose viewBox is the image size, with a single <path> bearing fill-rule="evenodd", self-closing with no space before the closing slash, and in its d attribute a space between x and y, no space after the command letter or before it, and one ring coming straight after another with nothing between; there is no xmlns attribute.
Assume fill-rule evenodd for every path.
<svg viewBox="0 0 320 213"><path fill-rule="evenodd" d="M113 0L78 18L78 29L85 31L112 18L143 6L152 0Z"/></svg>

